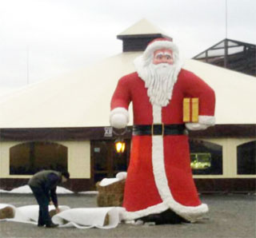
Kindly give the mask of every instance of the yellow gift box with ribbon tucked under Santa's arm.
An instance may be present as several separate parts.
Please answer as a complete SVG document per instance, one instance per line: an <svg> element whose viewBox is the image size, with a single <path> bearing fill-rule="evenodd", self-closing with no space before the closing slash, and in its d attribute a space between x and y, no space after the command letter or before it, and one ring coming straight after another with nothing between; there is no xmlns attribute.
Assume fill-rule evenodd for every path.
<svg viewBox="0 0 256 238"><path fill-rule="evenodd" d="M183 99L183 122L198 122L198 97L185 97Z"/></svg>

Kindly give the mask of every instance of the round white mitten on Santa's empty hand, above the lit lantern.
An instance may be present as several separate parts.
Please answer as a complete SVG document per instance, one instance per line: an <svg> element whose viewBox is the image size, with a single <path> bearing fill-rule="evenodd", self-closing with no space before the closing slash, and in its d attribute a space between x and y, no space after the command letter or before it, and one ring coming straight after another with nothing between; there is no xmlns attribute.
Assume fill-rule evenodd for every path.
<svg viewBox="0 0 256 238"><path fill-rule="evenodd" d="M129 113L125 108L115 108L110 112L110 125L114 128L125 128L128 122Z"/></svg>

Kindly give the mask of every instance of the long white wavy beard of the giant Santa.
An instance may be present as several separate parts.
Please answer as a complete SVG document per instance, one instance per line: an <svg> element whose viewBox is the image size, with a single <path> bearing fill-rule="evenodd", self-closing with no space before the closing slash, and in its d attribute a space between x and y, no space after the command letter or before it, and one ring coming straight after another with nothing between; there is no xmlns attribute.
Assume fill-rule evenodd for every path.
<svg viewBox="0 0 256 238"><path fill-rule="evenodd" d="M152 105L163 107L169 104L177 77L174 69L174 65L164 63L158 65L150 63L145 66L146 75L142 79L145 81L147 95Z"/></svg>

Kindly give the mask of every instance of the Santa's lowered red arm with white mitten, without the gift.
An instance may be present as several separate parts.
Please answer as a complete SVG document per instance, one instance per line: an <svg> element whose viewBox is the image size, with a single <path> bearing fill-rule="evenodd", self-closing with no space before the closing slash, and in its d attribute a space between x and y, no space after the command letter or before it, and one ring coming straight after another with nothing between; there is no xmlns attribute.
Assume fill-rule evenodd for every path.
<svg viewBox="0 0 256 238"><path fill-rule="evenodd" d="M115 128L124 128L129 122L128 107L130 104L129 78L122 77L114 90L111 99L110 125Z"/></svg>

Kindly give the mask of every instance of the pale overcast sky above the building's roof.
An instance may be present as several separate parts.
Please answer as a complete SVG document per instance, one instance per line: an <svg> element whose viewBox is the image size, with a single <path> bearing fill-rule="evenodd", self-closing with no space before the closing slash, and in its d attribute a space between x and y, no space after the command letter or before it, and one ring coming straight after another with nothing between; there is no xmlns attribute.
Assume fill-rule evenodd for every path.
<svg viewBox="0 0 256 238"><path fill-rule="evenodd" d="M0 88L119 54L116 36L142 18L172 37L183 58L226 36L256 44L255 0L0 0Z"/></svg>

